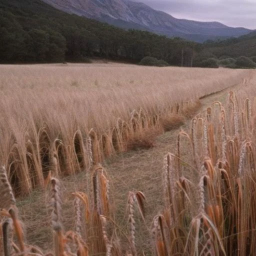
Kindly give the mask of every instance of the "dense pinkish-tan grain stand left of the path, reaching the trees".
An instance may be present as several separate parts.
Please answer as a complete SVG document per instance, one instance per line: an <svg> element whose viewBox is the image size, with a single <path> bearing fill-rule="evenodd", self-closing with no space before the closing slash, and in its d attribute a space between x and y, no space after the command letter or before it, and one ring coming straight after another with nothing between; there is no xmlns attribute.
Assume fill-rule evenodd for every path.
<svg viewBox="0 0 256 256"><path fill-rule="evenodd" d="M199 97L249 71L97 63L1 65L0 72L0 160L15 193L25 194L43 185L53 155L58 176L88 168L90 143L93 163L127 150L127 141L146 144L139 136L160 133L161 117L191 114Z"/></svg>

